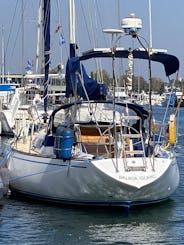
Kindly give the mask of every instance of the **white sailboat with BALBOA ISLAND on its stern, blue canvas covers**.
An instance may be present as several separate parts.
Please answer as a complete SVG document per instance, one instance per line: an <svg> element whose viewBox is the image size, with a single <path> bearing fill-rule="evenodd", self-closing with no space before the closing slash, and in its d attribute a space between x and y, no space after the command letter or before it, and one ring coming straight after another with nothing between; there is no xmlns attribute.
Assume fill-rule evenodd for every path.
<svg viewBox="0 0 184 245"><path fill-rule="evenodd" d="M49 3L45 1L45 6ZM172 147L175 118L169 120L168 135L168 122L156 124L138 104L107 100L105 85L88 76L85 60L110 58L114 67L116 59L128 58L129 50L98 48L76 56L75 48L71 42L68 103L53 111L46 129L12 147L8 162L12 194L61 204L128 208L168 199L179 185ZM135 49L132 55L149 65L161 63L167 76L179 69L177 57L158 50ZM48 67L45 71L47 81Z"/></svg>

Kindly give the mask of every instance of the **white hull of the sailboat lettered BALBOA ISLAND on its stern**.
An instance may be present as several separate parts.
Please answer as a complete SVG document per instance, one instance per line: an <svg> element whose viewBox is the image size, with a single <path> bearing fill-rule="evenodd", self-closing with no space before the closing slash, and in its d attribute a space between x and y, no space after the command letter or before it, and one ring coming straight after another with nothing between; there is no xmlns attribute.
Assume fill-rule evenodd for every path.
<svg viewBox="0 0 184 245"><path fill-rule="evenodd" d="M132 164L135 158L127 161ZM8 166L10 187L33 198L78 205L127 207L162 201L178 187L176 159L155 158L154 171L151 158L146 161L146 171L125 171L122 158L69 164L14 151Z"/></svg>

